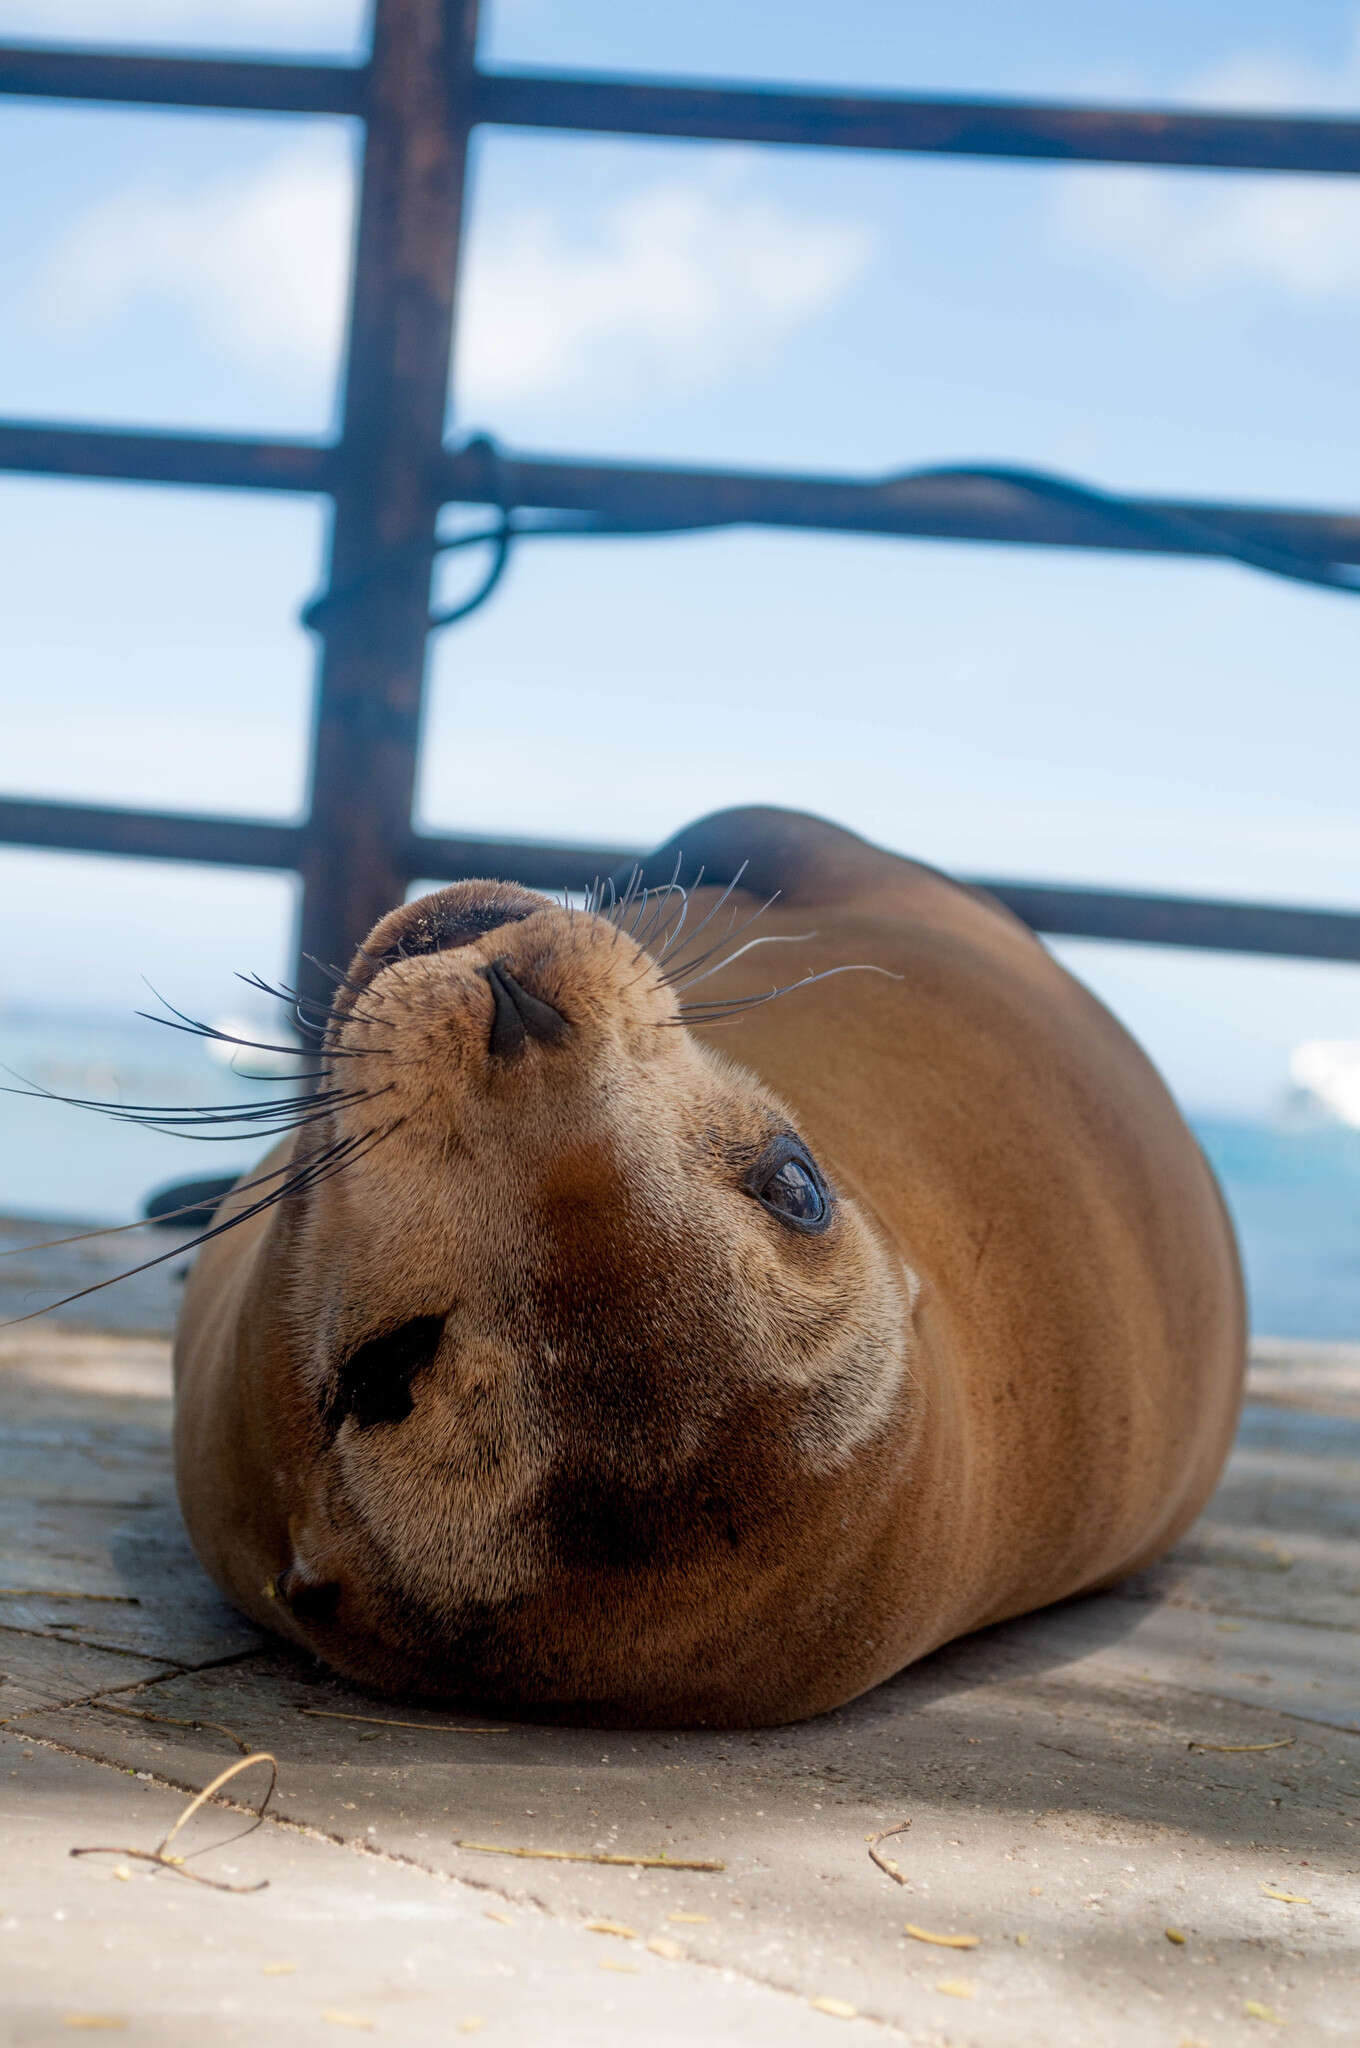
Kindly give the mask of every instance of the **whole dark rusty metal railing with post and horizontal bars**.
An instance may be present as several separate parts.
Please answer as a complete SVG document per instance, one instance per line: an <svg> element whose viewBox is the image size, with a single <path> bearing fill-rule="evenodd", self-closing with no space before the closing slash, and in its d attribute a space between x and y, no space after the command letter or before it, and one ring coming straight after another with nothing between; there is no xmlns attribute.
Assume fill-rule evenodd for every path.
<svg viewBox="0 0 1360 2048"><path fill-rule="evenodd" d="M1018 100L905 98L496 74L475 61L477 0L375 0L363 66L0 47L0 92L29 98L348 115L363 123L358 233L334 442L0 422L0 469L137 483L305 492L334 508L322 662L299 823L0 799L0 842L301 874L307 958L344 961L418 877L512 874L582 887L621 846L420 834L412 825L436 520L447 504L584 512L637 526L760 524L1040 547L1204 553L1192 528L1319 565L1360 563L1360 512L1129 500L1141 518L1045 500L1002 477L799 477L504 457L444 446L467 143L477 125L885 150L1225 174L1360 174L1360 121ZM1151 514L1151 518L1147 516ZM1159 532L1157 520L1174 532ZM985 879L1036 930L1360 961L1360 911L1196 901Z"/></svg>

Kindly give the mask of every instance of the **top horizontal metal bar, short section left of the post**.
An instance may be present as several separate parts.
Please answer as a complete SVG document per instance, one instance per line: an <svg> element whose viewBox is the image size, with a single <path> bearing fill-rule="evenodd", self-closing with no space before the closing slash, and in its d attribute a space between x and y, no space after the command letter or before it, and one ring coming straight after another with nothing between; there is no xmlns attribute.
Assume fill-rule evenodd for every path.
<svg viewBox="0 0 1360 2048"><path fill-rule="evenodd" d="M0 92L125 106L219 106L266 115L363 115L367 74L350 63L260 63L109 49L0 45Z"/></svg>

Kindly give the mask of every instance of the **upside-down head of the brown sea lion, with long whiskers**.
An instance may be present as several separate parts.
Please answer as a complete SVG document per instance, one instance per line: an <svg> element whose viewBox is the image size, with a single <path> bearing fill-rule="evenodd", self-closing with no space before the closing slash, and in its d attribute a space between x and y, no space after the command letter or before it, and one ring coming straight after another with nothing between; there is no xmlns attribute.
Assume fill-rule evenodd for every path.
<svg viewBox="0 0 1360 2048"><path fill-rule="evenodd" d="M248 1311L272 1612L385 1690L764 1718L842 1626L909 1284L633 922L461 883L356 954Z"/></svg>

